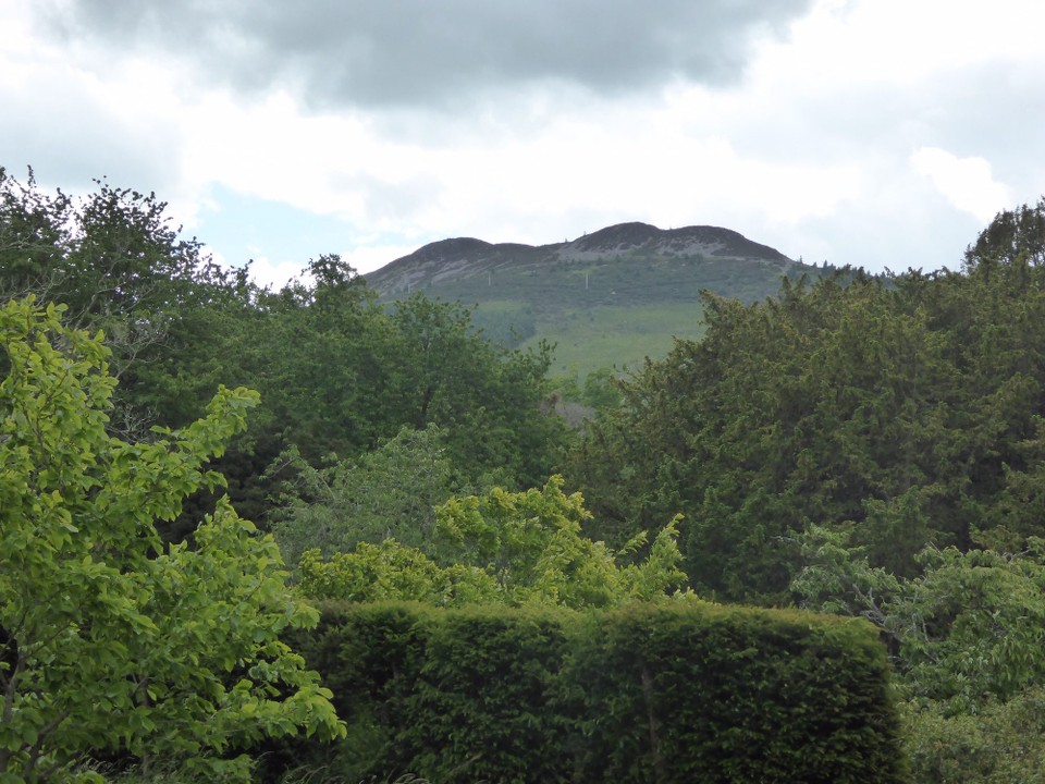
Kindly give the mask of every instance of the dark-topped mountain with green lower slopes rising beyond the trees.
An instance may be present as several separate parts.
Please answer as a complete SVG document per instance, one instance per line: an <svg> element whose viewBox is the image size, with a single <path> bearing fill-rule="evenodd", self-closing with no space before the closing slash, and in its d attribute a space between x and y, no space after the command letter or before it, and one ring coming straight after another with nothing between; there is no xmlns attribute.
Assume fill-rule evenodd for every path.
<svg viewBox="0 0 1045 784"><path fill-rule="evenodd" d="M422 291L475 306L509 345L557 344L554 372L583 376L660 357L701 331L700 294L753 302L819 268L729 229L620 223L550 245L442 240L366 275L386 301Z"/></svg>

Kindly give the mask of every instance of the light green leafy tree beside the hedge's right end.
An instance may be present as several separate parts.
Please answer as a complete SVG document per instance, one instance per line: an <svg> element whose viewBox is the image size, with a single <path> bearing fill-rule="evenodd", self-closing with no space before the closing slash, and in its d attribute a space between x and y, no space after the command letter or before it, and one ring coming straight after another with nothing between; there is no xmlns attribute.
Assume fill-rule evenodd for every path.
<svg viewBox="0 0 1045 784"><path fill-rule="evenodd" d="M909 579L871 566L844 530L812 526L801 544L792 590L810 609L875 623L909 698L978 713L1045 685L1045 540L1020 553L930 546Z"/></svg>

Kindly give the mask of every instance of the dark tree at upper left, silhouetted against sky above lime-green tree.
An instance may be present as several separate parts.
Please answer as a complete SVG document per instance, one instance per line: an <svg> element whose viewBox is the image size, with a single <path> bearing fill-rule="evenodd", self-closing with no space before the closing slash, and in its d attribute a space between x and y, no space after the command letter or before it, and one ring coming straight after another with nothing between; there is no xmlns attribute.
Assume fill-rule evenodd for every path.
<svg viewBox="0 0 1045 784"><path fill-rule="evenodd" d="M96 184L84 198L49 196L32 170L23 184L0 168L0 299L35 294L66 305L70 327L103 329L120 378L109 428L147 438L206 405L219 314L242 309L246 270L183 238L156 194Z"/></svg>

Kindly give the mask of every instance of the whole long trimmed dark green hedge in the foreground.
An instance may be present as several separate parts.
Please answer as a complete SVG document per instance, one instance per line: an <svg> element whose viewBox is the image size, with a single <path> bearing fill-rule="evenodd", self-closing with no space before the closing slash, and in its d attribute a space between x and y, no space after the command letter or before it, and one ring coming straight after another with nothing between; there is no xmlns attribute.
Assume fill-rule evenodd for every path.
<svg viewBox="0 0 1045 784"><path fill-rule="evenodd" d="M343 604L294 644L348 723L309 760L339 780L903 781L885 651L860 621Z"/></svg>

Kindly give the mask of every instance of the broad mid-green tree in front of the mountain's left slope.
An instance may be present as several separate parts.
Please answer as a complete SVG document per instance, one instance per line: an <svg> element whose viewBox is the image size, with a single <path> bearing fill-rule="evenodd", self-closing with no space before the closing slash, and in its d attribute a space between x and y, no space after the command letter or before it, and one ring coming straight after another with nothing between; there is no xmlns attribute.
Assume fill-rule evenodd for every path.
<svg viewBox="0 0 1045 784"><path fill-rule="evenodd" d="M495 346L455 304L415 296L386 309L336 257L310 269L314 285L260 295L258 313L230 345L239 382L266 401L251 427L255 454L280 463L295 448L308 466L333 468L364 461L403 428L434 426L466 486L494 477L517 488L548 476L568 432L541 407L546 348ZM286 467L317 478L300 461Z"/></svg>

